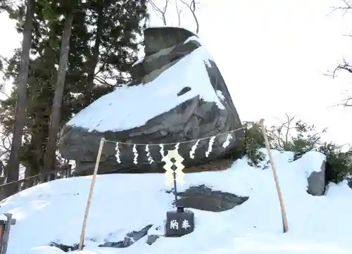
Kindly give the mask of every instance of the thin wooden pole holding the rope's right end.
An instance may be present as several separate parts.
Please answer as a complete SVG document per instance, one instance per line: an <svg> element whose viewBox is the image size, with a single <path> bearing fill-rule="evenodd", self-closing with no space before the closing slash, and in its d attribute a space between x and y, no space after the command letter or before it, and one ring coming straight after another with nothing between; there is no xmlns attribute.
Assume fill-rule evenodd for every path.
<svg viewBox="0 0 352 254"><path fill-rule="evenodd" d="M277 173L276 173L274 159L272 158L272 154L270 151L270 144L268 141L268 136L265 131L264 119L260 120L260 125L261 125L261 129L262 129L262 133L263 133L263 137L264 137L264 141L265 141L265 146L268 149L268 154L269 154L271 168L272 168L272 174L274 175L274 180L275 180L275 185L276 185L276 190L277 190L277 196L279 197L279 203L280 203L281 215L282 215L282 224L284 226L284 233L286 233L287 231L289 231L289 224L287 223L287 217L286 217L286 212L285 212L285 208L284 208L284 199L282 198L282 193L281 193L281 189L280 189L280 185L279 185L279 179L278 179Z"/></svg>

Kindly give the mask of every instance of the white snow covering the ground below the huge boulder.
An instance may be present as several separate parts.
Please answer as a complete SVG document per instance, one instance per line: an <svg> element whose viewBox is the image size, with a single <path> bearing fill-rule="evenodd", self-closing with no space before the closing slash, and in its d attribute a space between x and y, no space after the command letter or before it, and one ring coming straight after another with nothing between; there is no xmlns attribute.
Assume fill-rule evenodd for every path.
<svg viewBox="0 0 352 254"><path fill-rule="evenodd" d="M81 252L90 254L339 254L351 253L352 189L329 184L326 196L310 196L307 176L319 170L324 155L310 152L289 163L292 153L273 151L287 210L289 232L282 233L279 202L269 168L250 167L246 158L222 172L186 174L184 190L206 184L249 200L224 212L193 210L196 229L180 238L146 237L128 248L99 248L103 241L120 241L127 232L147 224L163 226L172 209L163 174L107 174L96 179ZM74 177L34 186L1 203L0 213L12 212L8 254L63 253L45 248L51 241L73 245L80 231L91 177ZM161 232L163 234L163 232ZM40 248L38 248L40 247Z"/></svg>

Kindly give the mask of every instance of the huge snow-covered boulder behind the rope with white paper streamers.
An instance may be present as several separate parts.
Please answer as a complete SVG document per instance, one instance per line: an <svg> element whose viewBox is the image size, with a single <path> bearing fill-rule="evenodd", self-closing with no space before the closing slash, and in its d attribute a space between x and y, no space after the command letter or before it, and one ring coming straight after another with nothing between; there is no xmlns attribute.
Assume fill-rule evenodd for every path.
<svg viewBox="0 0 352 254"><path fill-rule="evenodd" d="M193 166L239 151L244 132L225 81L217 65L195 34L180 27L150 27L144 30L145 56L134 63L132 82L102 96L75 115L63 128L60 152L76 161L77 174L94 168L99 140L128 144L169 144L216 135L213 150L206 157L209 139L189 151L196 141L180 144L184 165ZM230 145L224 148L227 132ZM99 173L163 172L161 147L136 146L134 164L132 145L119 144L120 163L115 157L115 142L103 148ZM164 150L174 149L174 145ZM241 155L241 151L239 151Z"/></svg>

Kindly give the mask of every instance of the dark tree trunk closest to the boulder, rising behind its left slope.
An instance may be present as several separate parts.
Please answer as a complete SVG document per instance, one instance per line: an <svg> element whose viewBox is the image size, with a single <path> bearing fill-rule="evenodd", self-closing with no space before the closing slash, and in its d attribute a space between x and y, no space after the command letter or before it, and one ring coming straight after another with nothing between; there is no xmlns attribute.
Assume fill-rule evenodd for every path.
<svg viewBox="0 0 352 254"><path fill-rule="evenodd" d="M94 47L92 49L92 57L90 59L91 63L89 64L89 73L87 77L87 96L85 98L85 105L88 106L92 103L92 89L94 88L94 77L96 65L99 62L99 47L101 43L101 36L103 35L103 25L104 25L104 16L103 16L103 5L100 3L98 10L98 18L96 20L96 36L94 41Z"/></svg>

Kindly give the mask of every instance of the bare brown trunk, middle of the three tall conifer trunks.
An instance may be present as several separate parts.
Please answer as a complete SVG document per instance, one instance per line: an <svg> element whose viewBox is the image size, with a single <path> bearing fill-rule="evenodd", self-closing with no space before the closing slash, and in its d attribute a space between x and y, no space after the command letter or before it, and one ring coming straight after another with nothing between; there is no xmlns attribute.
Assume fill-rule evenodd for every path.
<svg viewBox="0 0 352 254"><path fill-rule="evenodd" d="M68 53L70 51L71 27L73 23L73 11L68 11L65 16L63 27L63 38L60 50L60 62L58 64L58 80L54 94L53 106L50 115L49 140L46 144L44 159L44 171L54 170L56 164L57 137L60 129L61 104L63 99L63 88L65 86L65 75L68 63Z"/></svg>

